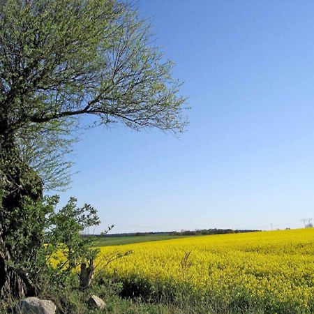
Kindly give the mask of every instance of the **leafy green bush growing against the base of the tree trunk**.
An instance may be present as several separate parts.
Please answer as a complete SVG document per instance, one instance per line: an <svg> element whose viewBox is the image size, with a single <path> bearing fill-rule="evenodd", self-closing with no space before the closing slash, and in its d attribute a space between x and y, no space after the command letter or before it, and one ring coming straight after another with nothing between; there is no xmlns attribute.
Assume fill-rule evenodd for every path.
<svg viewBox="0 0 314 314"><path fill-rule="evenodd" d="M24 197L22 211L17 208L2 218L4 223L22 225L6 237L6 246L14 254L10 267L27 276L36 287L36 294L50 285L65 286L71 282L77 286L78 267L98 253L91 246L92 239L80 234L85 227L100 223L96 209L89 204L77 207L76 199L71 197L57 211L58 202L57 195L36 202ZM34 237L40 239L41 245L32 249Z"/></svg>

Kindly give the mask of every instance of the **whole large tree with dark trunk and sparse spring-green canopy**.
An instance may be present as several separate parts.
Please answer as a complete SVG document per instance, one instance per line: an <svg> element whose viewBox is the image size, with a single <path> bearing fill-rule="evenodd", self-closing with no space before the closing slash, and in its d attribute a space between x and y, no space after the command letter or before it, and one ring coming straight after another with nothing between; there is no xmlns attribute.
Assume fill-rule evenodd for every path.
<svg viewBox="0 0 314 314"><path fill-rule="evenodd" d="M38 202L44 187L67 183L70 163L59 157L80 117L173 133L186 125L173 64L152 39L123 2L0 1L1 299L33 293L15 264L43 246L40 230L23 252L8 239L29 233L27 215L41 225L43 213L26 211L26 198Z"/></svg>

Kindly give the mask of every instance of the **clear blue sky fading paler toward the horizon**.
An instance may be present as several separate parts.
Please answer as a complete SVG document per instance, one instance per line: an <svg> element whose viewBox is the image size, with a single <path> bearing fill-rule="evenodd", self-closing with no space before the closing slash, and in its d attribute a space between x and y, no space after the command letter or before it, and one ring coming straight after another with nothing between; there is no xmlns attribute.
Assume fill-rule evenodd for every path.
<svg viewBox="0 0 314 314"><path fill-rule="evenodd" d="M73 183L96 233L302 227L314 218L314 1L138 0L188 96L179 139L84 132Z"/></svg>

